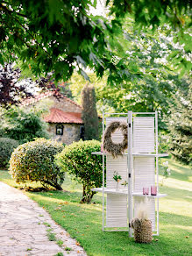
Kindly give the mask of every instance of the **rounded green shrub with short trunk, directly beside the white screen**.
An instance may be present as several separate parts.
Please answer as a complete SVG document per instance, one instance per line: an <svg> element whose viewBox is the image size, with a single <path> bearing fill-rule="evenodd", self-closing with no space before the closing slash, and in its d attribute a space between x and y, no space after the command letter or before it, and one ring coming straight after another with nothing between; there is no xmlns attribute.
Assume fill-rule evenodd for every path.
<svg viewBox="0 0 192 256"><path fill-rule="evenodd" d="M91 154L100 149L101 143L97 140L80 140L66 146L56 156L56 161L61 169L72 174L76 181L82 183L82 203L90 203L96 193L92 192L91 188L102 186L102 156Z"/></svg>

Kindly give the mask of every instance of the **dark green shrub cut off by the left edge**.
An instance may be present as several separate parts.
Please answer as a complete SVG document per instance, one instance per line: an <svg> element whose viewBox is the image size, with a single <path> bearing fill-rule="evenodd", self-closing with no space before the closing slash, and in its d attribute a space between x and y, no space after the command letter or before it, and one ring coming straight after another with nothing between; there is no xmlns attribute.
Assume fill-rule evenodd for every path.
<svg viewBox="0 0 192 256"><path fill-rule="evenodd" d="M11 153L18 147L18 141L10 138L0 138L0 167L8 167Z"/></svg>

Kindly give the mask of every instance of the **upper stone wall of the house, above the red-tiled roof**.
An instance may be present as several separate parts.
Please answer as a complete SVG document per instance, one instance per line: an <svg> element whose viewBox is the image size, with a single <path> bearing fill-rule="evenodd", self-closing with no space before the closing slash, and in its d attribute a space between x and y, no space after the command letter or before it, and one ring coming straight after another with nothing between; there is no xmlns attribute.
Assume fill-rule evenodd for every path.
<svg viewBox="0 0 192 256"><path fill-rule="evenodd" d="M50 96L50 100L53 101L53 108L63 110L64 112L75 112L82 113L82 108L75 103L71 103L70 100L66 98L57 99L55 96Z"/></svg>

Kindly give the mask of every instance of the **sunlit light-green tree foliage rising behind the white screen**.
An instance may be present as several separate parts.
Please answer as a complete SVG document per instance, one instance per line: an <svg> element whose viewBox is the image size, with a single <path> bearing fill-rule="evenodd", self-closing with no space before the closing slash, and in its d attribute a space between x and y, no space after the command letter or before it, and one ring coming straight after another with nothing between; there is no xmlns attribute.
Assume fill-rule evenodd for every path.
<svg viewBox="0 0 192 256"><path fill-rule="evenodd" d="M171 58L169 54L177 51L177 55L184 59L188 56L190 63L183 46L175 45L172 39L167 39L167 34L166 26L153 34L150 31L137 33L134 31L132 19L125 19L125 39L121 39L123 50L113 59L114 65L119 69L120 78L117 78L116 71L113 72L112 69L104 72L102 79L97 79L95 74L88 74L90 84L94 83L96 89L98 113L101 114L103 105L105 112L159 110L160 129L167 129L162 121L163 116L168 114L170 103L174 103L173 96L177 90L188 87L185 77L180 75L181 67L174 70L174 57ZM172 36L174 37L174 32ZM180 65L182 60L175 62ZM123 69L123 66L126 68ZM71 78L70 89L79 103L81 89L87 83L77 74Z"/></svg>

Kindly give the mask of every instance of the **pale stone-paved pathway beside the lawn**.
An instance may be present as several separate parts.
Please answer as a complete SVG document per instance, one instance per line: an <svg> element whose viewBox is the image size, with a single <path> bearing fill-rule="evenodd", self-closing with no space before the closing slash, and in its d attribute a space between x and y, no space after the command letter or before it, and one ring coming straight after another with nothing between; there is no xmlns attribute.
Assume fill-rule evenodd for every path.
<svg viewBox="0 0 192 256"><path fill-rule="evenodd" d="M50 241L47 230L56 234ZM62 242L60 242L61 244ZM57 254L62 252L63 254ZM21 191L0 182L0 256L87 255L68 232L55 224L46 210Z"/></svg>

